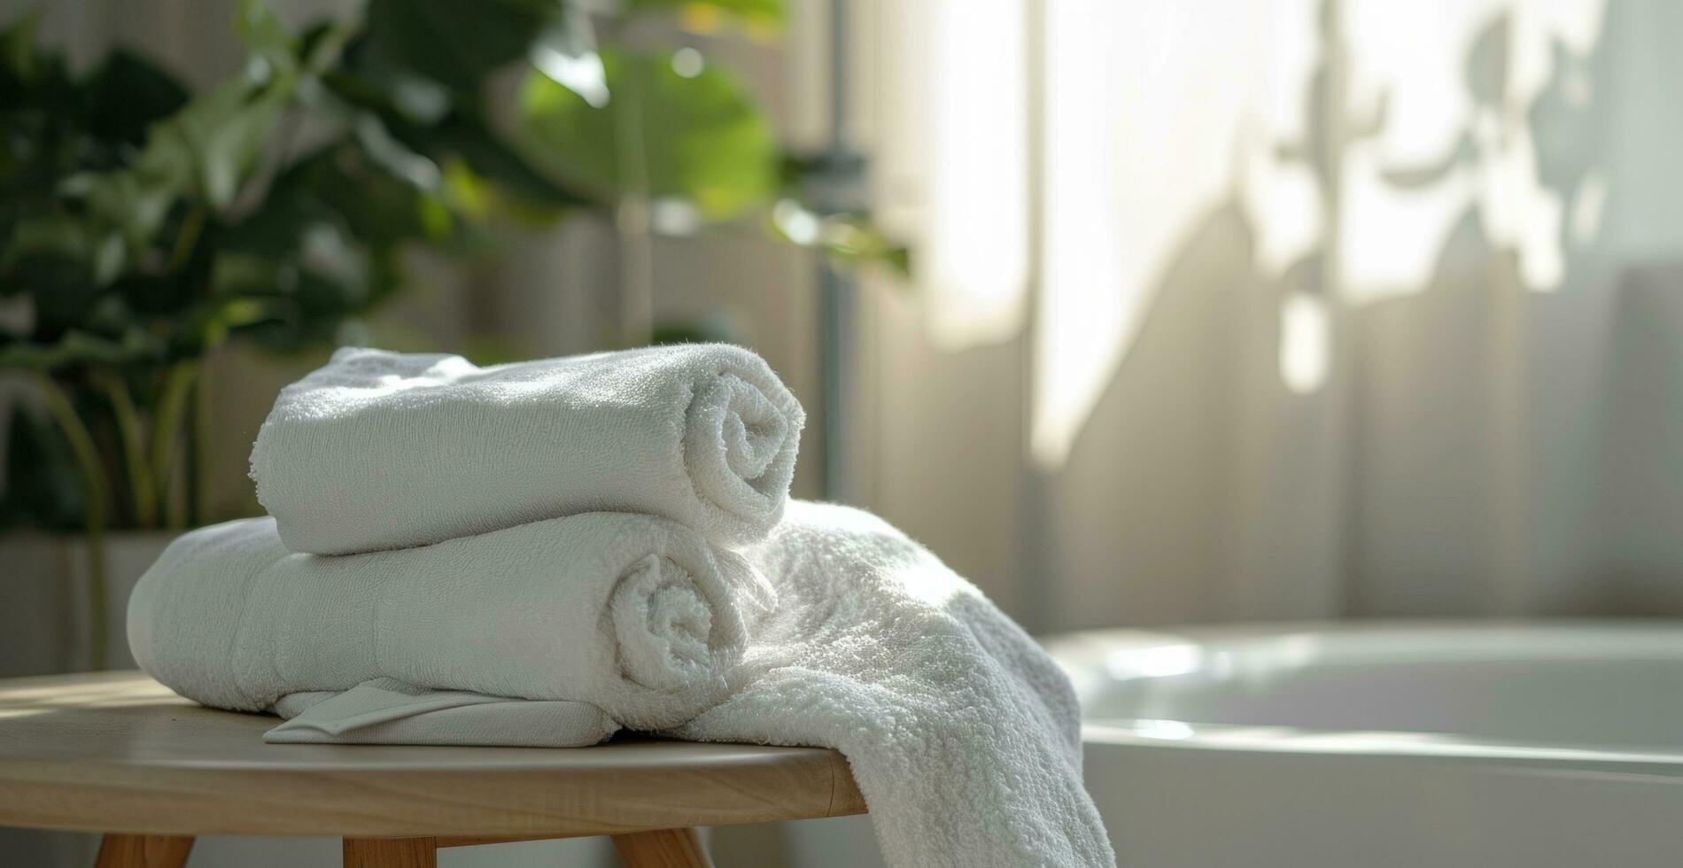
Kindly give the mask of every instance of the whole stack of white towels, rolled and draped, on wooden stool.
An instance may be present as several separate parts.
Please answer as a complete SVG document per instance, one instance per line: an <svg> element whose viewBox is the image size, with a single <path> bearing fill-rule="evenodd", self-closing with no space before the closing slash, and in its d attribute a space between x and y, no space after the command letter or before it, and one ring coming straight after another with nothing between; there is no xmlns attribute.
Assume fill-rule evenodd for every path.
<svg viewBox="0 0 1683 868"><path fill-rule="evenodd" d="M727 345L340 350L257 434L269 516L141 579L135 659L269 742L836 747L890 865L1114 865L1067 678L887 523L789 503L803 422Z"/></svg>

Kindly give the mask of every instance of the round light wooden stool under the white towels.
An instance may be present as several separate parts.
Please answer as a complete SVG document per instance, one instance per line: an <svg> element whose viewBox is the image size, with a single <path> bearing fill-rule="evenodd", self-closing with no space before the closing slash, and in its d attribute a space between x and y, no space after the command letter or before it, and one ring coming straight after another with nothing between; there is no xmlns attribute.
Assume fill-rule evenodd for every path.
<svg viewBox="0 0 1683 868"><path fill-rule="evenodd" d="M629 866L680 868L710 865L695 826L865 811L835 750L263 744L274 722L141 673L0 680L0 826L106 833L99 868L180 868L197 834L337 834L350 868L611 834Z"/></svg>

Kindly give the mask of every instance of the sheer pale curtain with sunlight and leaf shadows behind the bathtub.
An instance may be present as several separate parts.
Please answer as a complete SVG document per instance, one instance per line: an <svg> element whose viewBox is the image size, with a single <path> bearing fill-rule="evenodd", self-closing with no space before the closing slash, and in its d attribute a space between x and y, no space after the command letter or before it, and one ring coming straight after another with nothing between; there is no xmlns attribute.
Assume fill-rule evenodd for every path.
<svg viewBox="0 0 1683 868"><path fill-rule="evenodd" d="M998 10L904 7L868 54L879 187L976 244L934 244L921 311L877 303L890 518L1040 629L1683 612L1683 7L1001 3L1023 198L966 151L1006 158L1015 103L929 111L1015 67L904 61ZM1028 316L991 318L1005 281L966 276L1017 246ZM939 414L904 385L966 375ZM953 439L976 464L917 466Z"/></svg>

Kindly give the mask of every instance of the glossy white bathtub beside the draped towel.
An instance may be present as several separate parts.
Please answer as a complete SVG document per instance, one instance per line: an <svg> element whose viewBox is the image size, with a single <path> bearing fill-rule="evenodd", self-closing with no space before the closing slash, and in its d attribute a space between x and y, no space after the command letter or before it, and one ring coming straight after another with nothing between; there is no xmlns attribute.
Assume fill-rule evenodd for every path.
<svg viewBox="0 0 1683 868"><path fill-rule="evenodd" d="M1049 641L1124 868L1683 865L1683 626Z"/></svg>

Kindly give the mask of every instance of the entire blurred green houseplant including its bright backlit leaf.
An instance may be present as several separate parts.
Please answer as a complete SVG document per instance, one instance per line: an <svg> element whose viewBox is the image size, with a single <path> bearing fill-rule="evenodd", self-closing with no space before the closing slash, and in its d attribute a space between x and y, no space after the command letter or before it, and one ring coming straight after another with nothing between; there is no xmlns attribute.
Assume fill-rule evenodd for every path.
<svg viewBox="0 0 1683 868"><path fill-rule="evenodd" d="M811 165L778 151L727 71L618 42L697 10L762 30L781 3L678 7L370 0L293 32L239 0L247 64L199 94L128 50L72 72L34 17L0 32L0 372L32 392L0 417L0 528L86 533L96 664L104 535L212 518L209 353L333 340L401 289L412 246L483 256L502 222L594 209L616 215L623 256L646 257L650 207L677 204L702 230L766 227L904 267L865 215L799 204ZM517 94L498 98L510 72ZM619 341L648 338L641 323Z"/></svg>

